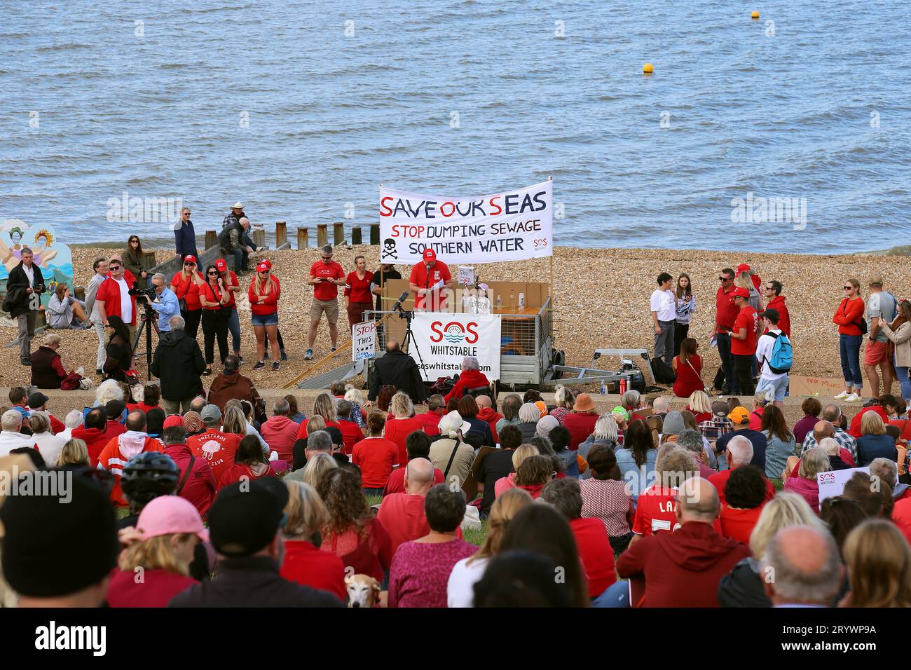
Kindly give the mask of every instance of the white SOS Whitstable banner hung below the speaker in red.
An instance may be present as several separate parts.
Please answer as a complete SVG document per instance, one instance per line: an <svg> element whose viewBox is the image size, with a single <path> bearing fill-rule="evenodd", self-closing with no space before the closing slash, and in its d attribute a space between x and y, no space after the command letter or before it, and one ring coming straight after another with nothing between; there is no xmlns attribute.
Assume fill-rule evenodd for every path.
<svg viewBox="0 0 911 670"><path fill-rule="evenodd" d="M415 312L408 353L428 382L457 374L465 356L475 356L493 381L500 378L500 323L499 314Z"/></svg>

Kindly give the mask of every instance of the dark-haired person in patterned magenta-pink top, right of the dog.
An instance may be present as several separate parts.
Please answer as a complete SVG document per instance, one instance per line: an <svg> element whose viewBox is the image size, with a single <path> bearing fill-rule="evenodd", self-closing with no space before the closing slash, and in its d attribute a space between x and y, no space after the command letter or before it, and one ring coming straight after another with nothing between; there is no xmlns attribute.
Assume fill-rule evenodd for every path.
<svg viewBox="0 0 911 670"><path fill-rule="evenodd" d="M455 563L476 548L455 536L465 516L465 494L438 484L427 492L430 532L405 542L389 569L389 607L445 607L446 583Z"/></svg>

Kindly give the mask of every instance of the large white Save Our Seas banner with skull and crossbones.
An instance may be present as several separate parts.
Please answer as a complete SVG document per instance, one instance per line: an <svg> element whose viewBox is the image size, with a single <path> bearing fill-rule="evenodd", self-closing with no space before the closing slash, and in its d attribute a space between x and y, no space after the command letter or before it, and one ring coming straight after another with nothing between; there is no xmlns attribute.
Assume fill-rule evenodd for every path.
<svg viewBox="0 0 911 670"><path fill-rule="evenodd" d="M494 263L553 255L553 181L453 198L380 187L381 263Z"/></svg>

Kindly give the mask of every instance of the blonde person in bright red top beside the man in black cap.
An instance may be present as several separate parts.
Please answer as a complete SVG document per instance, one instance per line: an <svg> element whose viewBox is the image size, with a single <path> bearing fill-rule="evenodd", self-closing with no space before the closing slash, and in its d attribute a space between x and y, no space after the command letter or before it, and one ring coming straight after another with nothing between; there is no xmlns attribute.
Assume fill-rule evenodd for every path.
<svg viewBox="0 0 911 670"><path fill-rule="evenodd" d="M328 457L327 457L328 458ZM332 462L332 459L329 459ZM334 463L333 463L334 467ZM281 577L289 582L322 589L344 602L344 565L328 551L320 551L322 527L329 521L329 512L310 484L284 479L288 488L288 504L284 527L284 560Z"/></svg>

